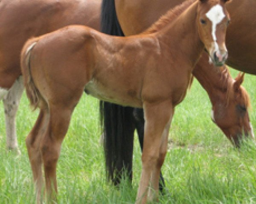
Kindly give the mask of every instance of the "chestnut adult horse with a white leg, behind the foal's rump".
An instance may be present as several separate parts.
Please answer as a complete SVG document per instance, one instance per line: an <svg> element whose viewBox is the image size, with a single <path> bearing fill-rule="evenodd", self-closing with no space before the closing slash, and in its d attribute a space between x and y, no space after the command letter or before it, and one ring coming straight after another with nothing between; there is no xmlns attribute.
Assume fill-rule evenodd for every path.
<svg viewBox="0 0 256 204"><path fill-rule="evenodd" d="M0 99L6 117L7 148L17 149L15 116L23 93L20 51L26 40L81 24L99 30L101 0L1 0Z"/></svg>

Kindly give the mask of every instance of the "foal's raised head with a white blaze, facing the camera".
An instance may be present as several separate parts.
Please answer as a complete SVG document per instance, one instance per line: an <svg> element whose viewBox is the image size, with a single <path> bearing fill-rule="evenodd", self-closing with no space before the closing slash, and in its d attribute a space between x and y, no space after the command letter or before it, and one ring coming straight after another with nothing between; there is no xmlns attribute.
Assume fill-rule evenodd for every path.
<svg viewBox="0 0 256 204"><path fill-rule="evenodd" d="M228 0L200 0L197 14L201 41L215 66L224 65L227 59L225 36L230 21L225 8Z"/></svg>

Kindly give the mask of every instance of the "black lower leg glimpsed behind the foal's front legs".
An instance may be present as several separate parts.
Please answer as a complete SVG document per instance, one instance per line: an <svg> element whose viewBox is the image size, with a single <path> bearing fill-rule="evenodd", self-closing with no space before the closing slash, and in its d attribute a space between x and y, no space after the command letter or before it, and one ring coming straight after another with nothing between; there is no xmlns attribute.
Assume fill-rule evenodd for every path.
<svg viewBox="0 0 256 204"><path fill-rule="evenodd" d="M134 123L138 134L138 139L140 142L140 149L143 151L143 139L144 139L144 113L143 108L134 108ZM160 171L160 181L159 181L159 190L161 193L163 193L165 187L165 182L163 178L163 174Z"/></svg>

